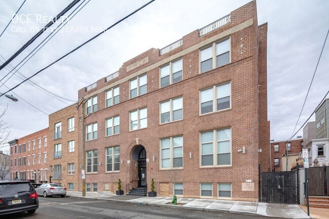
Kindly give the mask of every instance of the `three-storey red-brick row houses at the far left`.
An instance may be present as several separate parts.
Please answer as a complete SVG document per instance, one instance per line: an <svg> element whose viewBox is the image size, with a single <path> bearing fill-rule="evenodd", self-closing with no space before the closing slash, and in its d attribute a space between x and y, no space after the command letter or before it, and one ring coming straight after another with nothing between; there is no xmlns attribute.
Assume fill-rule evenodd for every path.
<svg viewBox="0 0 329 219"><path fill-rule="evenodd" d="M9 142L11 179L48 182L48 128Z"/></svg>

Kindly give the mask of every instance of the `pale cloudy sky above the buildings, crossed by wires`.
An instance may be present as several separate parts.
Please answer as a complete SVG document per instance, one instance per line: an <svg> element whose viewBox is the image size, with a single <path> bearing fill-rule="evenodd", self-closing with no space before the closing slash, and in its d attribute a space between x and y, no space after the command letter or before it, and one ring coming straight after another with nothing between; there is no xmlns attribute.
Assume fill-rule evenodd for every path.
<svg viewBox="0 0 329 219"><path fill-rule="evenodd" d="M0 32L13 18L0 37L0 55L6 60L10 58L36 34L36 29L44 27L70 2L27 0L18 16L13 18L23 0L0 0ZM147 2L89 1L19 72L26 77L34 74ZM31 79L65 99L55 99L26 82L9 93L17 97L18 102L0 97L0 110L8 107L0 120L10 129L9 140L48 127L49 114L73 104L77 101L79 89L117 71L124 62L151 48L166 47L249 2L156 0ZM267 101L271 140L291 138L296 124L297 130L329 90L329 42L326 42L297 123L329 28L328 9L329 1L325 0L257 1L258 24L268 23ZM48 34L44 33L36 39L10 64L18 65ZM0 57L0 64L3 62ZM0 79L8 72L7 69L1 70ZM8 78L1 81L5 85L0 83L0 93L7 92L22 81L16 74ZM302 135L301 129L295 138Z"/></svg>

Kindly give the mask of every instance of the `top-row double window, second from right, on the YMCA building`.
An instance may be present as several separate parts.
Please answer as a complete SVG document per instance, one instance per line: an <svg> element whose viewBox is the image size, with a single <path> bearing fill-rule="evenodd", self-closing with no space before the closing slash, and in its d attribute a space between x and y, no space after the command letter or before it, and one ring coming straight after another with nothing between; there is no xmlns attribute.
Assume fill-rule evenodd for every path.
<svg viewBox="0 0 329 219"><path fill-rule="evenodd" d="M168 86L183 79L183 61L182 59L170 62L160 68L160 87Z"/></svg>

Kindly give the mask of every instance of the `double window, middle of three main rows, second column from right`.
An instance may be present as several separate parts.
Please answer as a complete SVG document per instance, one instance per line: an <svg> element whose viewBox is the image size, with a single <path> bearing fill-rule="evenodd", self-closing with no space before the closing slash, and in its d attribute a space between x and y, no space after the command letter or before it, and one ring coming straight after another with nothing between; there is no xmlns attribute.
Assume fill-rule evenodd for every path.
<svg viewBox="0 0 329 219"><path fill-rule="evenodd" d="M183 98L171 99L160 103L161 123L183 118Z"/></svg>

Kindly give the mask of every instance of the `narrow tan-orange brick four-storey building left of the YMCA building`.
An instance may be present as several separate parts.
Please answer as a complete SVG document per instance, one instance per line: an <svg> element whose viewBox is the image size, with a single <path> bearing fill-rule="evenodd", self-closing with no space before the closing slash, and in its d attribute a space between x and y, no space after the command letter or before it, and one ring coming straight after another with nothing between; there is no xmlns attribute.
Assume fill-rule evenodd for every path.
<svg viewBox="0 0 329 219"><path fill-rule="evenodd" d="M76 103L49 115L49 182L77 190L78 117Z"/></svg>

